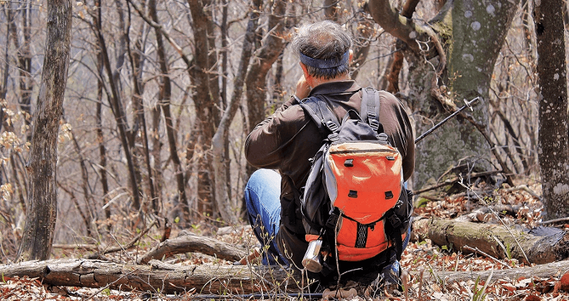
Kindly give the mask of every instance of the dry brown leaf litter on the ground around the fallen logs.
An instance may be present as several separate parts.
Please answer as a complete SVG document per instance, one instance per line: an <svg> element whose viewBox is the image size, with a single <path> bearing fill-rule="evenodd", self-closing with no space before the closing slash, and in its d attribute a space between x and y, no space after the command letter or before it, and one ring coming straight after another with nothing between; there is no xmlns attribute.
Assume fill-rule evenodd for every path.
<svg viewBox="0 0 569 301"><path fill-rule="evenodd" d="M477 195L474 200L461 192L451 197L432 198L430 202L415 209L419 217L440 217L453 219L470 212L479 202L500 202L519 206L516 217L501 216L502 221L509 224L521 224L528 228L538 225L541 213L541 202L533 197L531 190L494 190L491 197ZM501 215L501 214L500 214ZM496 216L481 217L485 222L495 221ZM569 225L557 225L567 229ZM243 231L216 231L210 224L194 225L192 231L199 235L214 236L217 239L230 243L243 243L254 239L250 227L245 226ZM225 233L213 235L213 232ZM143 241L139 244L138 253L145 253L153 246L153 241ZM59 251L52 258L81 258L84 253L77 251ZM177 256L176 262L181 265L230 265L228 261L206 256L200 253L186 253ZM382 297L366 297L366 292L357 283L348 283L343 290L356 289L357 295L344 297L341 300L569 300L569 274L563 278L565 271L550 278L518 278L516 280L468 280L454 283L445 283L437 280L433 270L469 271L474 270L500 270L504 268L520 268L523 263L513 259L497 260L475 254L465 254L446 247L433 246L429 239L414 241L408 245L401 261L403 269L409 271L407 290L403 292L385 292ZM527 266L526 266L527 267ZM183 296L175 295L148 295L145 292L119 292L109 289L92 288L54 288L42 285L37 279L28 278L0 278L0 300L204 300L201 295L188 293ZM334 299L334 297L330 297ZM220 300L262 300L258 296L225 296ZM295 300L295 297L280 296L277 300ZM212 300L207 296L206 300ZM275 300L264 298L264 300ZM336 299L338 300L338 299Z"/></svg>

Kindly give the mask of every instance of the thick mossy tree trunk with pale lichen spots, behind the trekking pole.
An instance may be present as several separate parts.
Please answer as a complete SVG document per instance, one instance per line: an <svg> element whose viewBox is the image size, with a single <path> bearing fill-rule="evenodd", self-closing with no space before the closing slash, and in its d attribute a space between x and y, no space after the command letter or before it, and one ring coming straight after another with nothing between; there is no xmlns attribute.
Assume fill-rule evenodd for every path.
<svg viewBox="0 0 569 301"><path fill-rule="evenodd" d="M420 114L420 119L415 120L418 135L462 106L463 99L488 98L494 62L518 1L450 1L430 21L435 32L400 16L387 0L369 2L374 20L407 46L411 89L408 104ZM419 48L425 43L430 52L426 46ZM487 159L491 153L488 118L484 103L472 116L449 121L425 138L416 153L415 170L420 173L415 173L413 185L420 188L458 165L466 166L463 173L473 167L491 168ZM501 165L507 173L505 164Z"/></svg>

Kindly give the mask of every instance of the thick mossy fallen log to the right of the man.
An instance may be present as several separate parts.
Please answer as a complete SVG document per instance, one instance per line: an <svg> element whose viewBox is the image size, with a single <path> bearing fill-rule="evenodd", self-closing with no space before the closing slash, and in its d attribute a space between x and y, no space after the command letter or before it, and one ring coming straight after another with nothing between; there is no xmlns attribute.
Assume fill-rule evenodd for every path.
<svg viewBox="0 0 569 301"><path fill-rule="evenodd" d="M562 261L569 256L569 234L555 228L538 227L529 231L501 224L446 219L420 219L413 226L418 229L415 237L428 237L438 246L463 253L472 253L470 248L477 248L495 258L536 264Z"/></svg>

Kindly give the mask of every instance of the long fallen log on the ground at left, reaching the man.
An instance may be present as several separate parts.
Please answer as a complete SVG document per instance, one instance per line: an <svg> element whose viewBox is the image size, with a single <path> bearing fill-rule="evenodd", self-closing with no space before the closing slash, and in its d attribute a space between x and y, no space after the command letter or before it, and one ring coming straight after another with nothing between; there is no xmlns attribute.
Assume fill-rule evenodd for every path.
<svg viewBox="0 0 569 301"><path fill-rule="evenodd" d="M110 288L184 294L189 291L219 295L285 290L300 291L299 273L278 266L179 266L151 261L131 265L92 259L26 261L0 266L4 278L28 276L41 283L81 288Z"/></svg>

